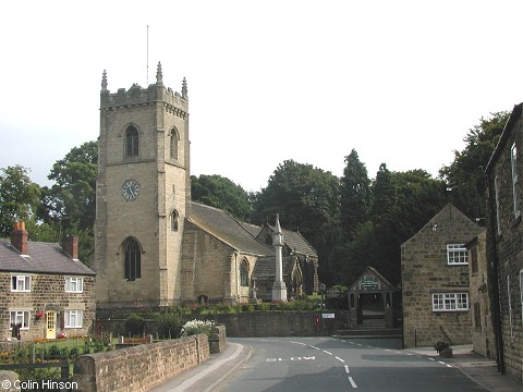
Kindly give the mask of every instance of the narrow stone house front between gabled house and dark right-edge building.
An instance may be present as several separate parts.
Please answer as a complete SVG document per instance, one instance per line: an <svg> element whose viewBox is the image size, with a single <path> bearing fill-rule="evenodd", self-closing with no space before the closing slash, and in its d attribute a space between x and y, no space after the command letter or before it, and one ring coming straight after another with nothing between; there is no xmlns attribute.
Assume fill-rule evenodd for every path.
<svg viewBox="0 0 523 392"><path fill-rule="evenodd" d="M496 357L496 339L490 311L486 242L487 232L484 231L466 244L466 249L471 285L472 344L475 353L492 358Z"/></svg>

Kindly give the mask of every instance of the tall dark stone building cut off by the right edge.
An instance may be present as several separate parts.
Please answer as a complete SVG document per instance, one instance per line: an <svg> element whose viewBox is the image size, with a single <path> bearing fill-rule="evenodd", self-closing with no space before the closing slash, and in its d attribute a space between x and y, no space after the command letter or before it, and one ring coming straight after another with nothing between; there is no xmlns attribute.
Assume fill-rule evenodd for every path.
<svg viewBox="0 0 523 392"><path fill-rule="evenodd" d="M523 103L514 106L486 168L487 259L498 369L523 381ZM523 177L522 177L523 179Z"/></svg>

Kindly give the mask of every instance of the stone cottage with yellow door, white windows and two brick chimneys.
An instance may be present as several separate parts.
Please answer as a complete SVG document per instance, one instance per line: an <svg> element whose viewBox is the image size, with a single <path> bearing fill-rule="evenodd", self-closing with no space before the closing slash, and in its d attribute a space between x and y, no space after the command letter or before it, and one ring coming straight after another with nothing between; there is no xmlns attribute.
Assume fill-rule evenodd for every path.
<svg viewBox="0 0 523 392"><path fill-rule="evenodd" d="M78 260L77 237L61 246L27 238L16 222L11 241L0 240L0 340L85 335L95 319L95 272Z"/></svg>

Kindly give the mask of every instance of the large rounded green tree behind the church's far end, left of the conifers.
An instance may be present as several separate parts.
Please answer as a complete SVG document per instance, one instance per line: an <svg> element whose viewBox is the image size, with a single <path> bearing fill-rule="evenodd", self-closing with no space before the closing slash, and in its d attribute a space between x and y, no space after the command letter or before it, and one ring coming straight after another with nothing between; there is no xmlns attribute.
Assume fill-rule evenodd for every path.
<svg viewBox="0 0 523 392"><path fill-rule="evenodd" d="M338 177L312 164L283 161L254 195L252 221L272 220L276 213L284 228L302 233L320 260L328 260L340 229ZM328 273L326 267L320 264L320 274Z"/></svg>

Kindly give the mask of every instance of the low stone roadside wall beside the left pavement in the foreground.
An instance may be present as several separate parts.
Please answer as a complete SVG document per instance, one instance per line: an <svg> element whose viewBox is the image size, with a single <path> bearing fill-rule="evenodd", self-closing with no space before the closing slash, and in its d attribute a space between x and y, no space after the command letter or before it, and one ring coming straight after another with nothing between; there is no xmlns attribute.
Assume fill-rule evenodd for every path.
<svg viewBox="0 0 523 392"><path fill-rule="evenodd" d="M205 334L82 355L74 363L73 381L81 392L148 391L209 355Z"/></svg>

